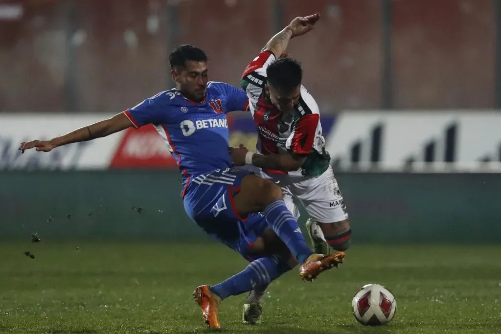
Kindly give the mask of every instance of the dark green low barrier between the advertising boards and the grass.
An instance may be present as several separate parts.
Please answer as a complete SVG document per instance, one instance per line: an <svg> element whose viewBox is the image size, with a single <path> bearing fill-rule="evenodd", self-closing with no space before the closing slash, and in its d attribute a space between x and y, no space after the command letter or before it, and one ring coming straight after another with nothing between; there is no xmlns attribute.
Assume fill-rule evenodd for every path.
<svg viewBox="0 0 501 334"><path fill-rule="evenodd" d="M356 243L500 243L499 174L340 173ZM0 172L0 239L206 238L175 170ZM302 211L301 224L306 215Z"/></svg>

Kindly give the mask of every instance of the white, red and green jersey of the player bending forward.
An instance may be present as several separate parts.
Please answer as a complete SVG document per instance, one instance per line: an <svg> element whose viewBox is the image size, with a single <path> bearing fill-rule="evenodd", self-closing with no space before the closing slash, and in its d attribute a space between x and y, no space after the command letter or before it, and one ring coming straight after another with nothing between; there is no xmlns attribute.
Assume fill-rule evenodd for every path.
<svg viewBox="0 0 501 334"><path fill-rule="evenodd" d="M275 61L270 51L262 52L243 72L240 85L249 99L249 109L258 128L256 150L261 154L294 153L306 155L304 164L295 176L317 176L330 164L330 156L322 136L320 111L315 99L301 85L299 102L287 113L280 112L266 97L266 69ZM268 173L282 171L264 170Z"/></svg>

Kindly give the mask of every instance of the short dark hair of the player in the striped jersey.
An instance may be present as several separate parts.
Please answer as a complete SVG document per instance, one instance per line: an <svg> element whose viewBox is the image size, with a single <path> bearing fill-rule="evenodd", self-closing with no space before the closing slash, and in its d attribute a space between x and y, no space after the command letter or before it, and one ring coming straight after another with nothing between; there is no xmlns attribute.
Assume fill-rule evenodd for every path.
<svg viewBox="0 0 501 334"><path fill-rule="evenodd" d="M301 63L293 58L279 58L266 69L268 84L273 88L290 91L301 85L303 69Z"/></svg>

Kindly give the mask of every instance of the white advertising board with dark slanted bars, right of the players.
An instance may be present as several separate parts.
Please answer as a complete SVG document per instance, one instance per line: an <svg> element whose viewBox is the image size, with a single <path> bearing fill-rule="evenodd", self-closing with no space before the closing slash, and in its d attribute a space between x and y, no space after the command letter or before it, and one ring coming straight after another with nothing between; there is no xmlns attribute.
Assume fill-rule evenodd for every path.
<svg viewBox="0 0 501 334"><path fill-rule="evenodd" d="M338 169L474 171L501 163L495 111L344 111L327 138Z"/></svg>

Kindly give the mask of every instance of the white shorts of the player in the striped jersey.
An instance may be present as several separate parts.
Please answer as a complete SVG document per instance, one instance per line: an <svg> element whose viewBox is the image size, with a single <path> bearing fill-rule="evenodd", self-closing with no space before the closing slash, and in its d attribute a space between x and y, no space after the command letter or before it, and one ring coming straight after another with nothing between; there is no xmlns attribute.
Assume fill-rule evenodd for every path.
<svg viewBox="0 0 501 334"><path fill-rule="evenodd" d="M316 177L267 174L260 176L282 187L287 208L299 219L298 205L303 204L308 215L319 223L334 223L348 219L348 211L332 167Z"/></svg>

